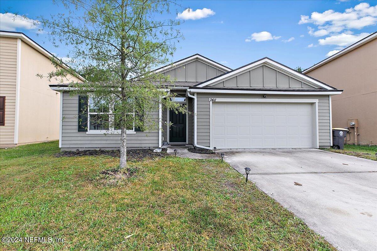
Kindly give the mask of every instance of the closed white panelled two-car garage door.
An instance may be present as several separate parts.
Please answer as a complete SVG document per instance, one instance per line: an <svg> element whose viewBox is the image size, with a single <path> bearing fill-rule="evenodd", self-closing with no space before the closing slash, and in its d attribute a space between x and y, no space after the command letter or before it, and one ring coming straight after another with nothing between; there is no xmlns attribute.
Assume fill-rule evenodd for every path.
<svg viewBox="0 0 377 251"><path fill-rule="evenodd" d="M313 148L313 105L213 102L211 146Z"/></svg>

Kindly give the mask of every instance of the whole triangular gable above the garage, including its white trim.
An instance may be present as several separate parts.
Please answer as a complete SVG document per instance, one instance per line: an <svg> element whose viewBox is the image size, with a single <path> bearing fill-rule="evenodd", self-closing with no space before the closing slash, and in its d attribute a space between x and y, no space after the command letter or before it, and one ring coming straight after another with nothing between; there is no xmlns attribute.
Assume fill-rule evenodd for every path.
<svg viewBox="0 0 377 251"><path fill-rule="evenodd" d="M222 82L223 84L221 84ZM196 87L209 87L213 85L243 86L245 88L308 88L313 90L336 90L334 87L273 61L270 58L259 59L238 69L197 84Z"/></svg>

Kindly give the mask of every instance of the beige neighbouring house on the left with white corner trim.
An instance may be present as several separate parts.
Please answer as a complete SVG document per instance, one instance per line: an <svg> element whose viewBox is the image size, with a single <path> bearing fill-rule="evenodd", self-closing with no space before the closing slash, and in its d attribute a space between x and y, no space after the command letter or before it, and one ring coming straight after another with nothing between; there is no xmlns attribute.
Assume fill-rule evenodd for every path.
<svg viewBox="0 0 377 251"><path fill-rule="evenodd" d="M60 95L49 88L59 81L36 76L54 70L51 57L25 34L0 31L1 148L59 139Z"/></svg>

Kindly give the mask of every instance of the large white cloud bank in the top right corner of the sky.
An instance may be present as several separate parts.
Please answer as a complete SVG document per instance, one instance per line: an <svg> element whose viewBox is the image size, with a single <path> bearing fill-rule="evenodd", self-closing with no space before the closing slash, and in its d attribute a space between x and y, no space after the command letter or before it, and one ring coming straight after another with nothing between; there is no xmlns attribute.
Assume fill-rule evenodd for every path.
<svg viewBox="0 0 377 251"><path fill-rule="evenodd" d="M329 33L342 32L349 29L362 29L366 26L377 24L377 5L359 3L344 12L336 12L332 9L320 12L312 12L310 17L301 15L299 24L312 23L317 26L317 31L309 30L312 36L320 37ZM326 34L327 33L327 34Z"/></svg>

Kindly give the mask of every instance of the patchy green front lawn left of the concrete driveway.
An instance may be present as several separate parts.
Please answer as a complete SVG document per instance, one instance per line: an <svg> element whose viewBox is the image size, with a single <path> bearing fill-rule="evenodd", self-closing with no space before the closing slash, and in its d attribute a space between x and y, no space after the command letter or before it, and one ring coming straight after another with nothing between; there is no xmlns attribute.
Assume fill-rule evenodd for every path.
<svg viewBox="0 0 377 251"><path fill-rule="evenodd" d="M100 172L118 159L58 151L57 142L0 150L0 236L65 242L0 249L335 250L220 160L129 162L136 176L109 185Z"/></svg>

